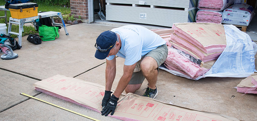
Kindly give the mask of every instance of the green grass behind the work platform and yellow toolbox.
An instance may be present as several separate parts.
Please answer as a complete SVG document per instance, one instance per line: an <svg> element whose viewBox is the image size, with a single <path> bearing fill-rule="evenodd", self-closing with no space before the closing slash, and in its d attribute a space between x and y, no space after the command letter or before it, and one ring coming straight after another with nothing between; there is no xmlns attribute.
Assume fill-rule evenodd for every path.
<svg viewBox="0 0 257 121"><path fill-rule="evenodd" d="M5 5L5 1L0 0L0 5ZM57 11L57 12L61 12L62 15L66 15L66 14L71 13L70 8L61 7L61 6L53 6L53 5L44 5L42 3L38 3L38 10L37 11L38 12L39 11ZM0 16L5 16L5 12L0 11ZM10 11L7 11L7 21L8 22L9 22L10 17L11 17L11 13L10 13ZM5 19L0 18L0 23L5 23ZM8 25L7 25L7 27L8 27ZM19 33L18 30L19 30L19 25L12 24L12 31ZM35 31L35 28L33 26L23 26L23 30L24 30L24 32L22 33L22 36L25 36L25 35L28 35L28 34L38 33L37 31ZM12 35L12 37L17 38L16 35Z"/></svg>

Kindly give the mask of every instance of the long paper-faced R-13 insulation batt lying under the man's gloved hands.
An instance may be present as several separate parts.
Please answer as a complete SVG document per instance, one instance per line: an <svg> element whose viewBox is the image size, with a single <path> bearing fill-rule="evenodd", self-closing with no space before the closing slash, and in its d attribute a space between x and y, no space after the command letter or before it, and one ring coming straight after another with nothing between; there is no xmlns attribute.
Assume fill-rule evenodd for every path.
<svg viewBox="0 0 257 121"><path fill-rule="evenodd" d="M72 77L56 75L36 82L33 86L36 90L51 96L97 112L102 111L101 103L105 90L105 87L102 85ZM101 116L100 113L99 116ZM112 117L124 121L173 121L180 119L239 121L230 116L191 110L132 93L120 96Z"/></svg>

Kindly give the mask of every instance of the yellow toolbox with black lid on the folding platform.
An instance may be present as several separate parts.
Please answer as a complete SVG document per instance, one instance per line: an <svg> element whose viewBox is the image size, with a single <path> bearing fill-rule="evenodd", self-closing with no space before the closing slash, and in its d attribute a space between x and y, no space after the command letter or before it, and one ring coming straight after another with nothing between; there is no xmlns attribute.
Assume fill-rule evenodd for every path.
<svg viewBox="0 0 257 121"><path fill-rule="evenodd" d="M9 5L12 18L17 19L37 16L37 8L38 5L32 2Z"/></svg>

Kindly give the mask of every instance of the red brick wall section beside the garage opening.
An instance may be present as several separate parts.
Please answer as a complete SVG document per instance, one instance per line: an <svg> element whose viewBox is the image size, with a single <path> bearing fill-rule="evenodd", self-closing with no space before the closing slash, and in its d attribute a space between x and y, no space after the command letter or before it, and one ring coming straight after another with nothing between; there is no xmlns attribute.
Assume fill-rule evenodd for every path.
<svg viewBox="0 0 257 121"><path fill-rule="evenodd" d="M88 12L88 0L70 0L71 5L71 15L74 15L75 18L82 19L83 22L86 22L89 18Z"/></svg>

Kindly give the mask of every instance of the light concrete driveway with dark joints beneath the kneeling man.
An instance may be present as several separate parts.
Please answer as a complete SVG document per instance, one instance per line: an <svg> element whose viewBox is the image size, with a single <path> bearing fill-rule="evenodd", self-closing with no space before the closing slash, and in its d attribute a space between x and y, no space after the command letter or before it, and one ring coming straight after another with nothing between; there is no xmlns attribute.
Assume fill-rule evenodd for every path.
<svg viewBox="0 0 257 121"><path fill-rule="evenodd" d="M126 25L126 23L123 24ZM20 95L21 92L95 119L118 120L40 93L32 86L37 81L57 74L105 85L105 60L94 57L96 51L94 44L101 32L118 26L121 25L99 23L70 25L67 26L68 36L62 28L59 38L54 41L43 41L39 45L28 42L27 36L24 36L22 48L14 51L19 54L19 57L13 60L0 60L0 120L90 120ZM256 55L255 58L257 58ZM113 89L116 88L123 74L124 59L118 57L116 61L117 73ZM255 67L256 64L255 60ZM155 99L193 110L225 114L240 120L257 120L257 95L242 95L233 88L242 79L244 78L206 77L194 81L160 70L157 81L159 93ZM145 80L136 94L143 95L145 91L143 89L146 87Z"/></svg>

